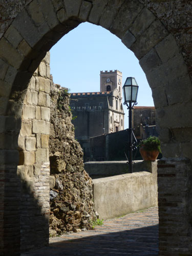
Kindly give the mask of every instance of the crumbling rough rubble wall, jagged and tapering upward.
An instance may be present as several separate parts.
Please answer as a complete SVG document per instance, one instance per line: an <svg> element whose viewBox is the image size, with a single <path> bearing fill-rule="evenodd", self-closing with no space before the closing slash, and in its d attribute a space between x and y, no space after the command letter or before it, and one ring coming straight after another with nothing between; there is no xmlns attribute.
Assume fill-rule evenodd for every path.
<svg viewBox="0 0 192 256"><path fill-rule="evenodd" d="M51 83L50 235L78 232L95 219L92 180L83 168L75 140L68 89Z"/></svg>

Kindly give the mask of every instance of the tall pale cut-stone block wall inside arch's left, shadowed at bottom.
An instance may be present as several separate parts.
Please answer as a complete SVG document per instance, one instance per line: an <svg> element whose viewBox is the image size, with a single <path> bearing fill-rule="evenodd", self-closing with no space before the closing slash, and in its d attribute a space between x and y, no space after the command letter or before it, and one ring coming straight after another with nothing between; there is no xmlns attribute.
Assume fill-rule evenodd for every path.
<svg viewBox="0 0 192 256"><path fill-rule="evenodd" d="M49 242L49 61L48 52L29 82L18 137L21 251Z"/></svg>

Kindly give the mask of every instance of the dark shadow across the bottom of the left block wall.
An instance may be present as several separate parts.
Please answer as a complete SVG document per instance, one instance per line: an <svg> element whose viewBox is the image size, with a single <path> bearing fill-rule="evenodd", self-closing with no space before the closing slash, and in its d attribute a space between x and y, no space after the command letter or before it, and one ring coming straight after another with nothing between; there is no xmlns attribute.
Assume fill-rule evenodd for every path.
<svg viewBox="0 0 192 256"><path fill-rule="evenodd" d="M18 170L24 166L18 166ZM42 173L44 170L42 170ZM43 174L41 174L43 175ZM49 207L42 209L41 195L35 193L34 182L20 173L20 251L34 250L49 245ZM34 194L36 194L34 196ZM36 197L36 198L35 198ZM47 200L49 204L49 200ZM15 221L15 220L13 220ZM38 239L37 239L38 238ZM14 249L14 248L13 248ZM10 254L11 255L11 254Z"/></svg>

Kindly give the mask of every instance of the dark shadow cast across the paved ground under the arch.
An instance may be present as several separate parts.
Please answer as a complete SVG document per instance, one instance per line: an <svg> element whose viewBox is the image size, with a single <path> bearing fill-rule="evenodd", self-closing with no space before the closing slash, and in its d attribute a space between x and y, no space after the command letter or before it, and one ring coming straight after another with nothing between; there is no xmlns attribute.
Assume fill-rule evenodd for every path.
<svg viewBox="0 0 192 256"><path fill-rule="evenodd" d="M52 239L49 247L22 256L158 255L158 225L104 234L97 234L98 230L61 236L56 238L58 242Z"/></svg>

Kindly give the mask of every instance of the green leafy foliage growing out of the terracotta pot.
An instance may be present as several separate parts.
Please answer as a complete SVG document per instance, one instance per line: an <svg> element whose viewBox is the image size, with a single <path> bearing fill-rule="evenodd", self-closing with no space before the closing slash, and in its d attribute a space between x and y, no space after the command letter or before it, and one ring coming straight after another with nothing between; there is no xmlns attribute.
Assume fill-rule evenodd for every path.
<svg viewBox="0 0 192 256"><path fill-rule="evenodd" d="M147 139L141 140L139 146L143 147L145 151L159 151L161 152L160 140L158 137L150 136Z"/></svg>

